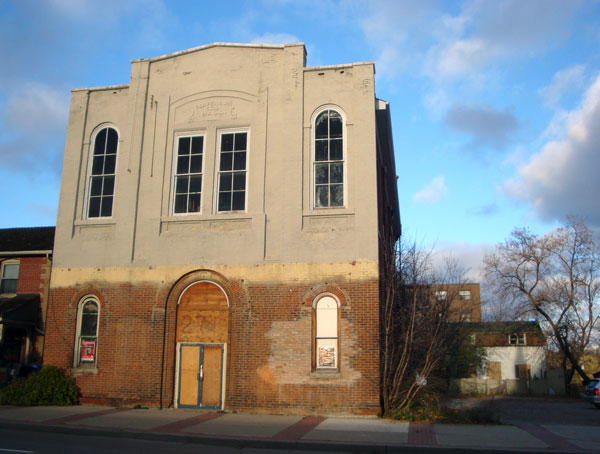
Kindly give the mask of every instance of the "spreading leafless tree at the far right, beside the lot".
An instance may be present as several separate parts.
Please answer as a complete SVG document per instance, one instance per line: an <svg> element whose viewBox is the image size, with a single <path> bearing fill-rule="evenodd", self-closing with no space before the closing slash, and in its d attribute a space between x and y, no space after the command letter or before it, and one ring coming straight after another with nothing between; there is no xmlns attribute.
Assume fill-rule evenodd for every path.
<svg viewBox="0 0 600 454"><path fill-rule="evenodd" d="M484 259L496 295L551 333L570 364L567 383L575 371L589 381L579 362L599 325L599 258L591 230L571 217L543 236L517 229Z"/></svg>

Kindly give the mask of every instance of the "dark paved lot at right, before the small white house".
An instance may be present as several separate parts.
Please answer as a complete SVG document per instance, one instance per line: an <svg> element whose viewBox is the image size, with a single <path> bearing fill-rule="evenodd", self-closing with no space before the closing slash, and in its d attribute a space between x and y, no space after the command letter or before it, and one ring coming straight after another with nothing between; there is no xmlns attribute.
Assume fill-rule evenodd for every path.
<svg viewBox="0 0 600 454"><path fill-rule="evenodd" d="M600 409L582 399L486 397L451 399L448 407L487 407L504 424L533 423L600 426Z"/></svg>

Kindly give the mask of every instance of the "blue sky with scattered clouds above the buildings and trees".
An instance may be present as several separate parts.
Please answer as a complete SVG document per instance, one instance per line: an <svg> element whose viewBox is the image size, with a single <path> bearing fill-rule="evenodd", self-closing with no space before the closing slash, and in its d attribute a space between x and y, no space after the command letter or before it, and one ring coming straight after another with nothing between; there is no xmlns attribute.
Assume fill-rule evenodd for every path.
<svg viewBox="0 0 600 454"><path fill-rule="evenodd" d="M517 227L600 231L597 0L0 0L0 228L55 225L72 88L212 42L374 61L404 234L470 280Z"/></svg>

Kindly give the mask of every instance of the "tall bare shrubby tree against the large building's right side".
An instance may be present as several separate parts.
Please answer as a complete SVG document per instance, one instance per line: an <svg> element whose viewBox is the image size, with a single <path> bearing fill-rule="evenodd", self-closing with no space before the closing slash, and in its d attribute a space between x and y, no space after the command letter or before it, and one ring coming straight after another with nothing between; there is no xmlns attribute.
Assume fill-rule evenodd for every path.
<svg viewBox="0 0 600 454"><path fill-rule="evenodd" d="M393 251L393 252L392 252ZM398 243L381 270L382 412L390 415L411 405L440 375L456 331L448 323L451 294L445 287L460 275L454 262L443 273L432 267L431 251ZM436 291L446 289L445 298Z"/></svg>

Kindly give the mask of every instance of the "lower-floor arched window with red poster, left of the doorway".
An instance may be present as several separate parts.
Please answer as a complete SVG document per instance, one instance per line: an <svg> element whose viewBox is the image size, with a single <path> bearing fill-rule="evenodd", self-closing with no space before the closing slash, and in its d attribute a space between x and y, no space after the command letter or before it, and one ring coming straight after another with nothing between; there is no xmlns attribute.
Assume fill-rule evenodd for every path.
<svg viewBox="0 0 600 454"><path fill-rule="evenodd" d="M94 297L87 296L79 304L75 341L76 366L96 363L99 312L100 304Z"/></svg>

